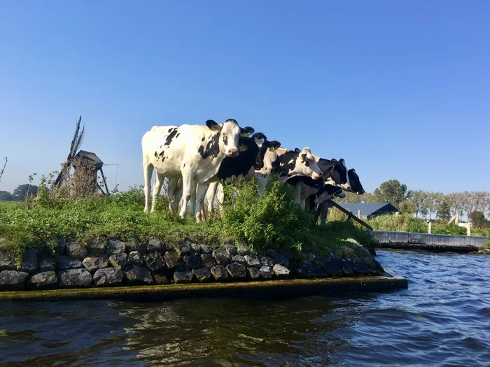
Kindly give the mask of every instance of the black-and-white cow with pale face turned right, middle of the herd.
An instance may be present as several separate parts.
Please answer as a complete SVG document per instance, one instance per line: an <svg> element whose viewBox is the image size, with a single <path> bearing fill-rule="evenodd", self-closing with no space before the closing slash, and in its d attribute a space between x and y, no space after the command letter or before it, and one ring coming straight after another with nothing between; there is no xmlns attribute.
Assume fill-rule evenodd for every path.
<svg viewBox="0 0 490 367"><path fill-rule="evenodd" d="M272 173L278 173L279 181L286 182L288 179L302 175L318 180L323 172L318 167L316 159L309 147L302 150L288 150L279 147L273 151L267 150L264 156L264 167L255 171L258 180L258 191L262 196L265 186L269 182Z"/></svg>

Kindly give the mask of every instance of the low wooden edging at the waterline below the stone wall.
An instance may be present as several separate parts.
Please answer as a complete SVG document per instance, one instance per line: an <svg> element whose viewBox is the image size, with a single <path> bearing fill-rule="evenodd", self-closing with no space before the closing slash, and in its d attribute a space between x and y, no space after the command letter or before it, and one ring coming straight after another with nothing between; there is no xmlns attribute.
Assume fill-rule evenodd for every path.
<svg viewBox="0 0 490 367"><path fill-rule="evenodd" d="M0 301L165 301L192 297L274 298L342 292L386 292L406 289L406 278L386 271L383 276L228 282L188 285L142 285L83 289L0 292Z"/></svg>

